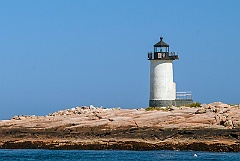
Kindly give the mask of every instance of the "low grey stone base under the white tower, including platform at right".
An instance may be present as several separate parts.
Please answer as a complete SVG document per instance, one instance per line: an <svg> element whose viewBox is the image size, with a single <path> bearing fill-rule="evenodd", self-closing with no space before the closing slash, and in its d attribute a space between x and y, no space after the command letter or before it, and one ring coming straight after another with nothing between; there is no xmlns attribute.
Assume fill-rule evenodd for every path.
<svg viewBox="0 0 240 161"><path fill-rule="evenodd" d="M193 103L192 99L149 100L149 107L187 106L191 103Z"/></svg>

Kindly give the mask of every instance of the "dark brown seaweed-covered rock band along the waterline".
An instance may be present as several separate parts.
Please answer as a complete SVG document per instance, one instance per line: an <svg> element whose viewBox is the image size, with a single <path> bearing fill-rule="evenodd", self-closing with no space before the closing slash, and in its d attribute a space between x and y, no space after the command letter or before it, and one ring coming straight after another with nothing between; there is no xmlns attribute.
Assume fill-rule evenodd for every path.
<svg viewBox="0 0 240 161"><path fill-rule="evenodd" d="M212 152L239 152L239 144L205 142L159 142L146 141L96 141L96 142L44 142L13 141L0 144L2 149L52 149L52 150L195 150Z"/></svg>

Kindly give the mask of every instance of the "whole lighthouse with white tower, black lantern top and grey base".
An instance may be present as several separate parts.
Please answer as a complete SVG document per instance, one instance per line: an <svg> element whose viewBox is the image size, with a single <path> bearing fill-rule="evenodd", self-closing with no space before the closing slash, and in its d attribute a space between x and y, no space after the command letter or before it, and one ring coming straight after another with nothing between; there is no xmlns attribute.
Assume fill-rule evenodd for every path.
<svg viewBox="0 0 240 161"><path fill-rule="evenodd" d="M160 37L154 45L154 53L148 53L150 60L150 107L175 105L176 84L173 82L173 60L175 52L169 52L169 45Z"/></svg>

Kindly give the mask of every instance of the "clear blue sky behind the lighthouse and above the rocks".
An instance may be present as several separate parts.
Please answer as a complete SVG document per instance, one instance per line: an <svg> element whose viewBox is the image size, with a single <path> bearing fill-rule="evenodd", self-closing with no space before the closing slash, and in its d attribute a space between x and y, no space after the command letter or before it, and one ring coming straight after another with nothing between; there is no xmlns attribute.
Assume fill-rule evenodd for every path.
<svg viewBox="0 0 240 161"><path fill-rule="evenodd" d="M148 106L162 35L178 91L240 103L239 0L0 0L0 119Z"/></svg>

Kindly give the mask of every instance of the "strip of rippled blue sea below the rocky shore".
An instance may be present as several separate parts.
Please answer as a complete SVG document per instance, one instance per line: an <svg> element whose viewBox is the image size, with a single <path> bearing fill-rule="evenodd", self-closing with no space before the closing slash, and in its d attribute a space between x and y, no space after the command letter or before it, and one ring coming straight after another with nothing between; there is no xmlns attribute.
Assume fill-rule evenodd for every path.
<svg viewBox="0 0 240 161"><path fill-rule="evenodd" d="M0 161L164 161L224 160L240 161L240 153L201 151L126 151L126 150L0 150Z"/></svg>

